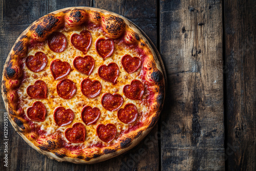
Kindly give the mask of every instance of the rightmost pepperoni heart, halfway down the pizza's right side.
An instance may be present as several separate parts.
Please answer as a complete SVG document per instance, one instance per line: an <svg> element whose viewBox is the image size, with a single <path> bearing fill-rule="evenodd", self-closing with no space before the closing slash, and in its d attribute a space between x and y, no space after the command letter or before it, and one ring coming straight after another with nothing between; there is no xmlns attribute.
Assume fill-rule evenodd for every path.
<svg viewBox="0 0 256 171"><path fill-rule="evenodd" d="M144 93L144 85L139 80L132 80L131 85L127 84L123 87L125 97L132 100L140 100Z"/></svg>

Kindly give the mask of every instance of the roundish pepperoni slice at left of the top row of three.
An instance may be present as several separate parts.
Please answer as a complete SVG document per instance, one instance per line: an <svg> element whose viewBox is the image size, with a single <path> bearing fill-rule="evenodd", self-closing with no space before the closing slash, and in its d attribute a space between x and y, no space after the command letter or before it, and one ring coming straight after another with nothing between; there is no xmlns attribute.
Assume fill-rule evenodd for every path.
<svg viewBox="0 0 256 171"><path fill-rule="evenodd" d="M48 37L48 46L53 52L63 52L67 46L67 38L63 33L53 32Z"/></svg>

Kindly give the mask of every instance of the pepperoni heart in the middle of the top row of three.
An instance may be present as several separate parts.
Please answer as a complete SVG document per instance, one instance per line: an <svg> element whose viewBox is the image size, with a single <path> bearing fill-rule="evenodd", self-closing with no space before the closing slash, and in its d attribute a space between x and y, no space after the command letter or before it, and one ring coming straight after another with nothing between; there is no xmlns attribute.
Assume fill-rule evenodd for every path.
<svg viewBox="0 0 256 171"><path fill-rule="evenodd" d="M72 34L70 41L76 49L87 53L92 43L92 35L89 31L83 30L80 32L80 35Z"/></svg>

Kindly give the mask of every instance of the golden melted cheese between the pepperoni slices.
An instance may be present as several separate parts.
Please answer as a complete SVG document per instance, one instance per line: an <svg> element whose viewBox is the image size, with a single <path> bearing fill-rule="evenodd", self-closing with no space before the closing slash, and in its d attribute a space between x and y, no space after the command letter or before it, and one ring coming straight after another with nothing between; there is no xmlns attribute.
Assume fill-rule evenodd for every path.
<svg viewBox="0 0 256 171"><path fill-rule="evenodd" d="M83 29L86 29L86 28L83 28ZM86 139L83 143L83 146L89 147L92 144L97 144L98 142L101 142L103 145L108 146L110 144L105 143L98 138L97 133L96 133L97 125L99 123L103 123L103 124L113 123L117 127L117 135L119 135L121 131L125 131L129 128L129 124L122 123L118 119L117 111L110 112L103 108L103 106L101 105L101 96L103 93L111 93L111 94L118 93L118 94L120 94L124 99L124 102L120 108L123 108L124 105L127 103L133 103L137 106L137 109L139 112L139 116L136 121L140 120L141 122L143 122L146 119L145 115L148 112L148 106L141 104L139 100L131 100L131 99L126 98L122 91L125 84L130 84L131 81L134 79L141 80L141 78L139 76L140 69L138 69L135 73L127 74L121 65L121 58L125 54L129 54L131 56L138 56L138 57L140 57L140 56L138 55L138 53L135 50L127 49L127 48L121 47L120 45L115 44L115 49L114 49L114 53L112 54L112 56L103 60L103 58L100 57L95 50L95 41L99 37L103 37L103 38L106 38L106 37L104 36L104 33L102 30L93 30L93 31L90 30L90 32L92 34L92 44L91 44L91 47L86 55L90 55L94 58L95 66L94 66L93 72L91 73L90 76L81 74L80 72L78 72L74 69L73 59L76 56L83 57L84 54L81 51L75 49L70 42L71 35L73 33L79 34L80 31L82 31L82 30L72 31L72 32L65 32L63 30L59 30L59 32L62 32L63 34L65 34L66 38L67 38L67 47L66 47L65 51L63 51L61 53L55 53L55 52L51 51L47 45L47 41L44 42L44 45L42 46L41 49L29 50L28 56L34 55L38 51L44 52L48 57L48 63L47 63L46 68L38 73L34 73L34 72L30 71L25 65L24 72L26 73L27 77L23 81L22 86L20 86L20 89L18 91L20 106L23 106L24 111L27 113L27 109L32 105L32 103L34 101L41 101L42 103L44 103L46 106L46 109L47 109L45 121L44 122L33 121L33 122L36 123L38 126L40 126L41 130L46 131L47 135L54 134L56 131L60 132L62 135L61 139L66 141L70 145L77 145L77 144L70 143L66 139L66 137L64 136L65 130L68 127L71 127L72 124L74 124L76 122L83 123L83 121L81 119L81 109L84 105L90 105L90 106L92 106L92 108L97 107L100 109L100 112L101 112L99 119L95 123L90 124L90 125L86 125L83 123L84 126L86 127ZM55 60L55 59L60 59L62 62L67 61L70 63L71 72L65 78L68 78L68 79L72 80L73 82L75 82L76 88L77 88L75 95L71 99L68 99L68 100L62 99L61 97L58 96L58 94L56 92L56 85L59 80L54 80L54 78L51 74L51 71L50 71L50 63L52 60ZM24 62L25 62L25 60L24 60ZM98 76L99 66L101 66L101 65L107 66L111 62L117 63L117 65L119 67L119 76L117 79L117 83L115 85L113 85L111 82L102 80ZM82 95L81 90L80 90L80 82L84 78L90 78L92 80L100 81L102 89L101 89L101 93L97 97L87 98L84 95ZM26 93L27 87L34 84L34 81L36 81L38 79L45 81L47 84L48 91L47 91L46 99L39 99L39 100L32 99ZM53 95L54 98L50 98L51 95ZM72 123L70 123L66 126L60 126L60 127L57 126L57 124L54 121L53 113L54 113L55 108L57 108L58 106L63 106L65 109L71 109L74 112L75 116L74 116ZM118 137L115 138L112 142L113 143L117 142L117 139L118 139Z"/></svg>

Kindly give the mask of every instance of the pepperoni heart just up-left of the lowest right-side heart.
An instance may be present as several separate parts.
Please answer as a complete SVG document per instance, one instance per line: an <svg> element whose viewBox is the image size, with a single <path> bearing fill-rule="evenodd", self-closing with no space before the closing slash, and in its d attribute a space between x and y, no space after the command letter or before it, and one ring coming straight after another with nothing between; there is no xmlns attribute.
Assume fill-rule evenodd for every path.
<svg viewBox="0 0 256 171"><path fill-rule="evenodd" d="M123 104L123 97L120 94L114 93L105 93L101 97L102 106L108 111L116 111Z"/></svg>

